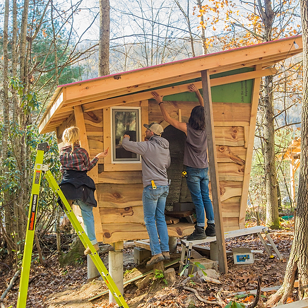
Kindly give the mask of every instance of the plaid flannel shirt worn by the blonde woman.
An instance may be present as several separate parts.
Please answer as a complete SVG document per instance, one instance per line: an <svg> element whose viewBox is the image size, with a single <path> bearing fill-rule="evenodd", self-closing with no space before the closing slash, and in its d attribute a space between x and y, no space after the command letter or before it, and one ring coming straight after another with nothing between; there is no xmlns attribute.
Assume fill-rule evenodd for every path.
<svg viewBox="0 0 308 308"><path fill-rule="evenodd" d="M59 160L61 162L61 171L90 171L97 164L98 158L95 157L90 160L87 150L76 144L73 147L73 153L71 153L71 146L61 148Z"/></svg>

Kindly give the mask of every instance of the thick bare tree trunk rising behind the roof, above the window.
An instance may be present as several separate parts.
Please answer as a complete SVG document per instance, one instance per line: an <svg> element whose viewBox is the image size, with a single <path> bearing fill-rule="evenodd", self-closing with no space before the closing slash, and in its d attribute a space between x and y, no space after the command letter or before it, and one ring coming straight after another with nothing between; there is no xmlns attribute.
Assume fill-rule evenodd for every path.
<svg viewBox="0 0 308 308"><path fill-rule="evenodd" d="M110 38L110 4L109 0L100 0L100 50L98 73L109 75L109 38Z"/></svg>

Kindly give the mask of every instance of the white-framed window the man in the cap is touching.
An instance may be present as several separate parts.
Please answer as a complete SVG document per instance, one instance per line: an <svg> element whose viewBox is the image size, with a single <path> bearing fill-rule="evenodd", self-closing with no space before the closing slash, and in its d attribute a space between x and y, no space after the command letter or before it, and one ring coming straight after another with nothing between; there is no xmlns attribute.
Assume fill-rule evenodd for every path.
<svg viewBox="0 0 308 308"><path fill-rule="evenodd" d="M131 141L140 141L140 108L112 109L112 160L114 162L140 162L140 155L122 147L124 135Z"/></svg>

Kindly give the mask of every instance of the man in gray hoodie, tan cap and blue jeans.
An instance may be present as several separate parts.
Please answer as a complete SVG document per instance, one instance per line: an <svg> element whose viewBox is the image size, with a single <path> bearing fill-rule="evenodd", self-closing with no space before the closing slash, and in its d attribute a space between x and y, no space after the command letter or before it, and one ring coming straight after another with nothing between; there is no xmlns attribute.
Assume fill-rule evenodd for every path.
<svg viewBox="0 0 308 308"><path fill-rule="evenodd" d="M143 181L143 215L150 238L152 258L146 266L170 259L169 237L165 220L166 199L169 193L167 167L170 166L169 142L160 135L164 131L158 123L143 124L147 141L129 141L124 135L125 150L141 155Z"/></svg>

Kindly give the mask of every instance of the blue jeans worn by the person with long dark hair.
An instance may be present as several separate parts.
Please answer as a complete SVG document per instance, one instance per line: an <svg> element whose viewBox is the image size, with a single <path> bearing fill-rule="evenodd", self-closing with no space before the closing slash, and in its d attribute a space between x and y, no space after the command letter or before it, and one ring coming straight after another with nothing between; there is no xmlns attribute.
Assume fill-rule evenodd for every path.
<svg viewBox="0 0 308 308"><path fill-rule="evenodd" d="M204 210L206 210L208 223L214 223L213 205L208 195L208 168L199 169L186 166L186 172L186 183L196 208L197 225L205 226Z"/></svg>

